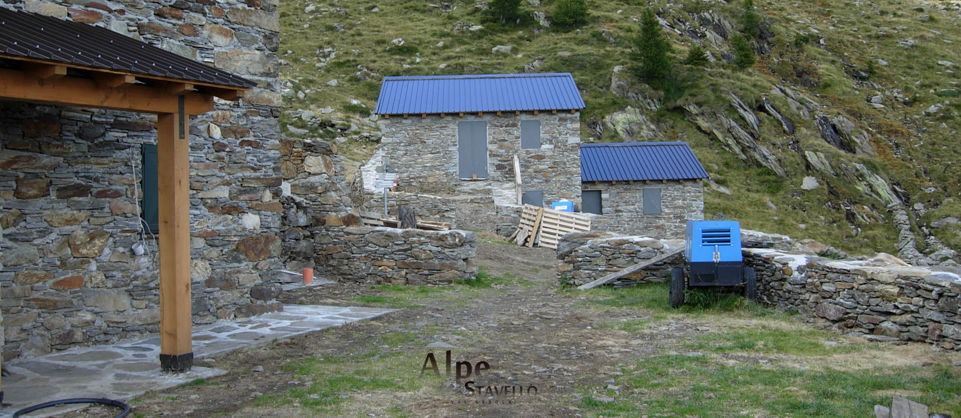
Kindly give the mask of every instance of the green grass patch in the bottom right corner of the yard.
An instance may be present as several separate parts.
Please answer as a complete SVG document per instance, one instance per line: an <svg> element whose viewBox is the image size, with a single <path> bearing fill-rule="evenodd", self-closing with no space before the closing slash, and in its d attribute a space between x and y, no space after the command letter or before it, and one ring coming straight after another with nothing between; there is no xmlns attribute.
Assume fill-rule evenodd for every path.
<svg viewBox="0 0 961 418"><path fill-rule="evenodd" d="M806 370L664 355L626 370L628 385L642 390L625 391L614 404L585 398L579 406L604 416L850 417L868 416L875 405L890 405L893 393L908 393L932 411L961 412L961 372L949 365Z"/></svg>

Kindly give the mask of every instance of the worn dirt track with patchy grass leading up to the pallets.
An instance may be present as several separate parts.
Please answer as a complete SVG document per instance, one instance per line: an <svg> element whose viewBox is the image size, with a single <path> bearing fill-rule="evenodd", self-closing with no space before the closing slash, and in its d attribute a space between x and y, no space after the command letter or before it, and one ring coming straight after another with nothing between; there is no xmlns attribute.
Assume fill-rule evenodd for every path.
<svg viewBox="0 0 961 418"><path fill-rule="evenodd" d="M398 310L200 361L199 365L229 373L147 394L136 400L134 412L139 416L589 416L596 411L579 408L584 396L601 399L604 394L629 392L645 397L642 383L622 376L638 359L690 351L699 334L757 327L751 318L665 314L664 310L591 303L584 293L557 290L554 251L490 238L481 241L477 262L486 278L480 286L335 283L284 293L283 302L288 304L368 303ZM784 327L809 327L800 319L794 322ZM618 324L639 325L631 329ZM937 360L924 352L930 351L924 345L918 347L899 348L914 351L894 357L924 353L924 358ZM516 392L536 386L536 395L468 396L454 377L431 379L419 373L428 353L434 354L444 373L447 350L455 362L489 364L489 371L471 377L472 387L513 386ZM777 358L749 353L725 354L718 360L766 364ZM607 390L611 387L615 389Z"/></svg>

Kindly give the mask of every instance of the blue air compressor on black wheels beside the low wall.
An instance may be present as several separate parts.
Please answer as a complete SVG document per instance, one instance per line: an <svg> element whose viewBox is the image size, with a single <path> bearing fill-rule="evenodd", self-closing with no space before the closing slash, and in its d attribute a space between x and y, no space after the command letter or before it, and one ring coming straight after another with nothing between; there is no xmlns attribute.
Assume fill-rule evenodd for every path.
<svg viewBox="0 0 961 418"><path fill-rule="evenodd" d="M671 270L671 307L684 305L686 287L743 288L757 299L754 269L741 256L741 225L737 221L687 221L684 268Z"/></svg>

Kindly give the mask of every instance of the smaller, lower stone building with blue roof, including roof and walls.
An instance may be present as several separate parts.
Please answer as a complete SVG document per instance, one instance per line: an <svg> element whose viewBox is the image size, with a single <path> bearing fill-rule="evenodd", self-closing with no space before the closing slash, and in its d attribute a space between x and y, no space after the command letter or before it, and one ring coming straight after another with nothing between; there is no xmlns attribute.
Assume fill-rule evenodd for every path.
<svg viewBox="0 0 961 418"><path fill-rule="evenodd" d="M592 230L683 238L704 218L707 172L686 142L581 144L580 178Z"/></svg>

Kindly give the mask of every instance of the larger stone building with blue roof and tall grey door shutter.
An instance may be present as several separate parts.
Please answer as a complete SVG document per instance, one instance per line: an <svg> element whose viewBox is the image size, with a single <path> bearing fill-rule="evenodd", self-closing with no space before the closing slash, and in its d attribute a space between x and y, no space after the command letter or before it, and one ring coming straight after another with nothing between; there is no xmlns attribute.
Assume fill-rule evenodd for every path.
<svg viewBox="0 0 961 418"><path fill-rule="evenodd" d="M495 195L516 205L580 200L580 114L569 73L384 77L382 155L398 190ZM503 199L501 199L503 198Z"/></svg>

